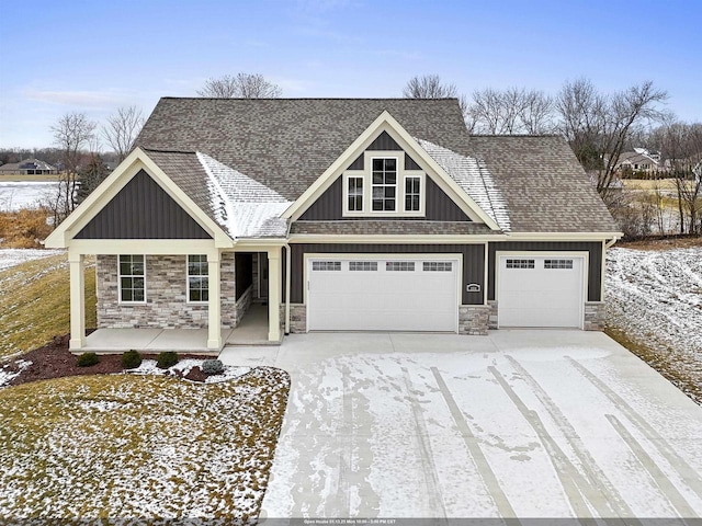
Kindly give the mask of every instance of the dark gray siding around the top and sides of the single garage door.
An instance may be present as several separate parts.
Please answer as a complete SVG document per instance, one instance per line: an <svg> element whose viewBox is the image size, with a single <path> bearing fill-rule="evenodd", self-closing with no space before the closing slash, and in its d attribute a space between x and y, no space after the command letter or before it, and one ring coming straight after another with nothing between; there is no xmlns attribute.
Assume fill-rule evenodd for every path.
<svg viewBox="0 0 702 526"><path fill-rule="evenodd" d="M601 301L602 296L602 243L600 242L550 242L550 241L506 241L488 244L488 299L495 297L496 252L587 252L588 301Z"/></svg>

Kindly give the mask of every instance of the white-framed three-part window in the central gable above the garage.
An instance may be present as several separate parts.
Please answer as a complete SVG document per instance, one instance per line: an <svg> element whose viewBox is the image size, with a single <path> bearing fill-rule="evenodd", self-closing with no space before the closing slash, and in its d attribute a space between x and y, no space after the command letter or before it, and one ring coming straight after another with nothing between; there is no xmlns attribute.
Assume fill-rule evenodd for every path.
<svg viewBox="0 0 702 526"><path fill-rule="evenodd" d="M343 215L422 217L426 175L407 159L401 150L366 150L343 173Z"/></svg>

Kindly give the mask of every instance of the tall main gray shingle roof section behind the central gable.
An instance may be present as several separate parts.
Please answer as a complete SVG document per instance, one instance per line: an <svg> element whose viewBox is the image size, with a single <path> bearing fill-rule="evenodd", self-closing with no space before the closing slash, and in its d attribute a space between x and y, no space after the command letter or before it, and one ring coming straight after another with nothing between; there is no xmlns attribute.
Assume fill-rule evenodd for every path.
<svg viewBox="0 0 702 526"><path fill-rule="evenodd" d="M466 146L455 99L169 98L136 145L206 153L294 201L385 110L414 137L454 151Z"/></svg>

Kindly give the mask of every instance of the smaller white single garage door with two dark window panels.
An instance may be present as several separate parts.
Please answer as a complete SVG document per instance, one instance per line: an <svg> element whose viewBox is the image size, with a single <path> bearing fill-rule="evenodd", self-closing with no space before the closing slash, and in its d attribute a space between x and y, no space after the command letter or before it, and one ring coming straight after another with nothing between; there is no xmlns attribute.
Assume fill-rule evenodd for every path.
<svg viewBox="0 0 702 526"><path fill-rule="evenodd" d="M499 327L581 328L585 258L500 256Z"/></svg>

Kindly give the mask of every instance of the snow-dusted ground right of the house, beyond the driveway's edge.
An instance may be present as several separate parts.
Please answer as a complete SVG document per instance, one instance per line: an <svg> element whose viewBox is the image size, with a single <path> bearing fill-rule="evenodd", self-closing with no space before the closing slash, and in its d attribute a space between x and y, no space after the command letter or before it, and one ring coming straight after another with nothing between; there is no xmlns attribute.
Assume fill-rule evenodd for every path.
<svg viewBox="0 0 702 526"><path fill-rule="evenodd" d="M615 247L607 265L609 327L702 404L702 247Z"/></svg>

